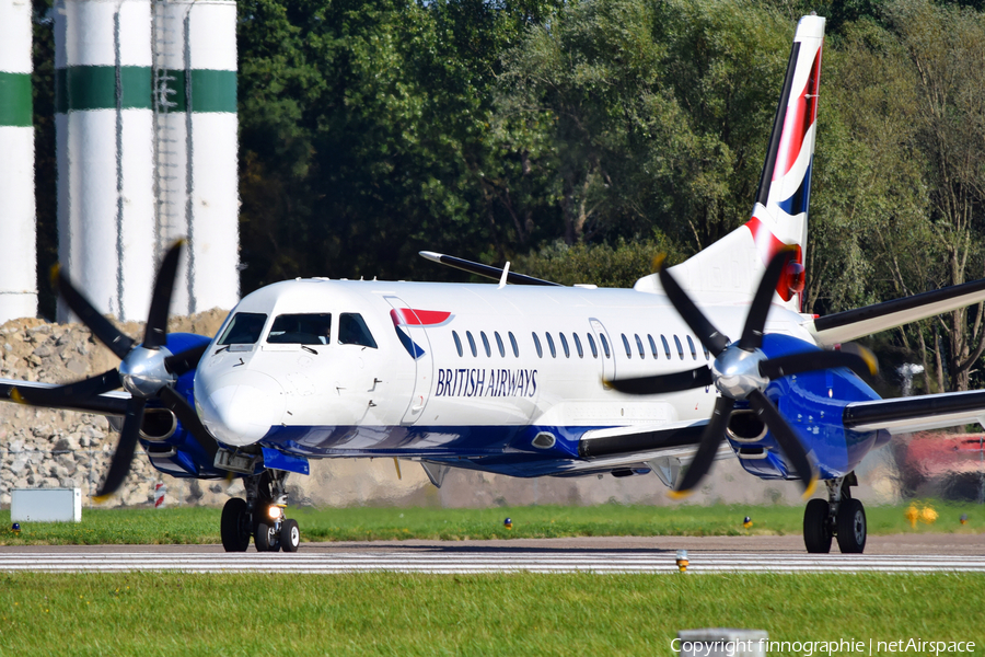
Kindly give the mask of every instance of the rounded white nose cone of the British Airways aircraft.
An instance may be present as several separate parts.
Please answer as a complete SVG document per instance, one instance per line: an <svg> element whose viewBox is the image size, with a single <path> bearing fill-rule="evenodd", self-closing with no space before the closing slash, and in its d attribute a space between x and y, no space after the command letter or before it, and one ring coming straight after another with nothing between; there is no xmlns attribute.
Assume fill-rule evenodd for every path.
<svg viewBox="0 0 985 657"><path fill-rule="evenodd" d="M271 377L242 370L215 381L196 380L195 404L202 424L222 442L243 447L267 435L283 416L283 389Z"/></svg>

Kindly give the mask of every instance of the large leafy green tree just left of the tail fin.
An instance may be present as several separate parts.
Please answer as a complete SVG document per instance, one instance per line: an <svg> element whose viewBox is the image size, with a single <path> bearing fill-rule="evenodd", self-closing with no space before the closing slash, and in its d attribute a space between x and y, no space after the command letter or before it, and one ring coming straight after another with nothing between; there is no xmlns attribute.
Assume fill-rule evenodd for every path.
<svg viewBox="0 0 985 657"><path fill-rule="evenodd" d="M568 244L700 249L749 219L790 32L742 2L570 2L505 55L497 137L553 173Z"/></svg>

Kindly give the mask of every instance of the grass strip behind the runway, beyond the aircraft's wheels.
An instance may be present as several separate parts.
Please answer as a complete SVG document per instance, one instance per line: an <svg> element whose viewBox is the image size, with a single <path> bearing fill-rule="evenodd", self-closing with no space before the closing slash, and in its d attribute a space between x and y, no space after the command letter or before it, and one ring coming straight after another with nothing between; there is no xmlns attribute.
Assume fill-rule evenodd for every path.
<svg viewBox="0 0 985 657"><path fill-rule="evenodd" d="M869 533L985 532L985 507L971 503L917 503L932 506L934 525L911 528L900 506L867 508ZM219 542L220 509L84 509L79 523L22 522L10 527L10 511L0 511L0 544L200 544ZM962 514L967 523L958 520ZM745 529L742 520L752 518ZM788 506L530 506L493 509L346 508L289 509L309 541L374 541L404 539L561 538L592 535L749 535L801 533L803 509ZM512 530L503 527L511 518Z"/></svg>

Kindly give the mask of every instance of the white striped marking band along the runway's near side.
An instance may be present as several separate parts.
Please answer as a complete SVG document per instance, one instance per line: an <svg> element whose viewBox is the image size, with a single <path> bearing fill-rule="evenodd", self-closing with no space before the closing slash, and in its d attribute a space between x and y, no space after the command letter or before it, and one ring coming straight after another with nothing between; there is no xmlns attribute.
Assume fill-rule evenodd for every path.
<svg viewBox="0 0 985 657"><path fill-rule="evenodd" d="M676 573L673 552L625 554L565 551L552 554L496 552L320 552L304 554L67 554L0 553L0 572L48 573ZM690 555L690 573L985 573L985 556L808 555L706 553Z"/></svg>

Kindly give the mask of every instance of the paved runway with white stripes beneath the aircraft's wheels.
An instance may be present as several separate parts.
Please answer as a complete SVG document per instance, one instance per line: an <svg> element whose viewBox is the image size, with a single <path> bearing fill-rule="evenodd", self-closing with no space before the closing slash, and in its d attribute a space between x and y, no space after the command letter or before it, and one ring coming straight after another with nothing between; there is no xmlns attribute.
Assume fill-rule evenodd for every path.
<svg viewBox="0 0 985 657"><path fill-rule="evenodd" d="M308 573L985 573L985 537L880 537L869 554L807 554L796 537L654 537L523 541L303 543L300 552L228 554L219 545L0 548L0 572ZM876 537L873 537L876 539ZM887 540L890 539L890 540ZM758 550L749 550L753 546ZM880 544L882 550L879 549ZM915 545L928 549L914 553ZM731 549L734 548L734 549Z"/></svg>

